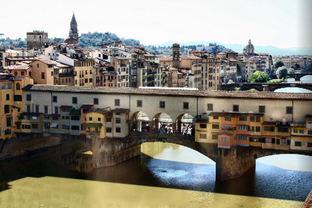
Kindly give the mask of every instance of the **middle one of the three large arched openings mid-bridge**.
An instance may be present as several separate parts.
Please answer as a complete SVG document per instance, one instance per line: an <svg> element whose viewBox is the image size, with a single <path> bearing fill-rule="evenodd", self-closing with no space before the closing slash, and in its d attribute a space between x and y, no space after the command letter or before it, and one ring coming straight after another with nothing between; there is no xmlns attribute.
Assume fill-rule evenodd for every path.
<svg viewBox="0 0 312 208"><path fill-rule="evenodd" d="M153 132L173 133L173 120L166 113L158 113L153 116Z"/></svg>

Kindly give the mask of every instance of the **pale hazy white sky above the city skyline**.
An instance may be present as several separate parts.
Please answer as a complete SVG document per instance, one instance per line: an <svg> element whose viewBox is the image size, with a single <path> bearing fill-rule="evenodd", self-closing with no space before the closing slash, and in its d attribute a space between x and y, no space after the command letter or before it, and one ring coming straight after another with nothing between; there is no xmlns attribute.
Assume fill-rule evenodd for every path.
<svg viewBox="0 0 312 208"><path fill-rule="evenodd" d="M107 32L143 44L218 41L312 47L312 0L0 0L0 33L43 30L67 37L73 10L79 33Z"/></svg>

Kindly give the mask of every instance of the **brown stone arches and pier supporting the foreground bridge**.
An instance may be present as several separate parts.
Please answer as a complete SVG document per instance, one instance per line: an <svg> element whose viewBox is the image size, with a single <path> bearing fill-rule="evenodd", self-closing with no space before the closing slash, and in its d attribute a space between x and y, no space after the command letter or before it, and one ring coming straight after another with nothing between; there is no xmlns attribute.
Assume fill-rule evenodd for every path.
<svg viewBox="0 0 312 208"><path fill-rule="evenodd" d="M263 149L253 146L218 148L217 144L196 142L193 136L154 132L130 132L130 135L123 139L89 137L88 148L93 152L94 168L99 168L112 166L136 157L141 153L141 144L155 141L186 146L209 157L216 162L216 178L218 180L241 177L256 164L256 159L259 157L277 154L312 155L311 152Z"/></svg>

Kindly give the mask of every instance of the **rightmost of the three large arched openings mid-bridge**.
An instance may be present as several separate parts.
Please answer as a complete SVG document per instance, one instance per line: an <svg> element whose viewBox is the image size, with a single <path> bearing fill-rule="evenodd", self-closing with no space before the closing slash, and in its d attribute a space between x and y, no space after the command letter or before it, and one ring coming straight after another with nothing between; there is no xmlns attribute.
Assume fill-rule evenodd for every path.
<svg viewBox="0 0 312 208"><path fill-rule="evenodd" d="M190 114L181 114L175 119L177 135L195 135L195 119Z"/></svg>

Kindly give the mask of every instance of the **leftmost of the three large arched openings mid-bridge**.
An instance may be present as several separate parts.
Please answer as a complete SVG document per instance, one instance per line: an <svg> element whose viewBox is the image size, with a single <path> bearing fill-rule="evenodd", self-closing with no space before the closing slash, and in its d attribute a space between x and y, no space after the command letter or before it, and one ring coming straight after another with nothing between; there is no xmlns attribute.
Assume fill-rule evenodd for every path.
<svg viewBox="0 0 312 208"><path fill-rule="evenodd" d="M132 132L148 132L149 121L150 118L148 118L148 115L145 112L135 112L130 119L130 130Z"/></svg>

